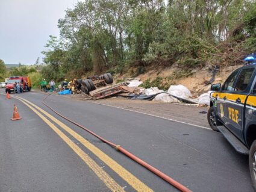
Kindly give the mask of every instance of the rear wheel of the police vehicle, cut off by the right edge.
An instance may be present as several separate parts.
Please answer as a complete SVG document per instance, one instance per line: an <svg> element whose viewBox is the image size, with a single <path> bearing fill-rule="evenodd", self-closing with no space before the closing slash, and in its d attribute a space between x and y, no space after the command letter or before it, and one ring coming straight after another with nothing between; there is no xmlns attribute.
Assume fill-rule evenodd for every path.
<svg viewBox="0 0 256 192"><path fill-rule="evenodd" d="M251 173L252 187L256 191L256 140L252 143L249 151L249 168Z"/></svg>

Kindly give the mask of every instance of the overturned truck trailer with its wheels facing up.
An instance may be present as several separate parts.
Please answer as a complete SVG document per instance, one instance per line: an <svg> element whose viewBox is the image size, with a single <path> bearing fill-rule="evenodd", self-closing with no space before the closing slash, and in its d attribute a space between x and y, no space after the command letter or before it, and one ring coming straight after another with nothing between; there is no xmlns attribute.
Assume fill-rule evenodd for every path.
<svg viewBox="0 0 256 192"><path fill-rule="evenodd" d="M113 84L111 73L104 75L95 75L87 79L78 79L77 88L81 88L82 93L87 94L92 99L102 99L120 92L132 92L125 82Z"/></svg>

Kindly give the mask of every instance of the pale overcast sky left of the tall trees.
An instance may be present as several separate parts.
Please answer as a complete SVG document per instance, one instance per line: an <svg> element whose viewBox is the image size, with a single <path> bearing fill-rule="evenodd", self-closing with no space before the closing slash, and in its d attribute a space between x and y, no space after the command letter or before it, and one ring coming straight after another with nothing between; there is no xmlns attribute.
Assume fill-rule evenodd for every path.
<svg viewBox="0 0 256 192"><path fill-rule="evenodd" d="M0 59L6 64L42 63L49 35L77 0L0 0Z"/></svg>

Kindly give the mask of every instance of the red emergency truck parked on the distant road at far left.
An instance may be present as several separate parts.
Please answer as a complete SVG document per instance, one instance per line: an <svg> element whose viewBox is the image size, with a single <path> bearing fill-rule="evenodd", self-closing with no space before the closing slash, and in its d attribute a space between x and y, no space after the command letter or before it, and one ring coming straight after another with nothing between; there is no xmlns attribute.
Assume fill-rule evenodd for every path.
<svg viewBox="0 0 256 192"><path fill-rule="evenodd" d="M8 93L13 92L15 82L20 83L20 92L31 90L31 80L29 76L10 76L5 87L5 91Z"/></svg>

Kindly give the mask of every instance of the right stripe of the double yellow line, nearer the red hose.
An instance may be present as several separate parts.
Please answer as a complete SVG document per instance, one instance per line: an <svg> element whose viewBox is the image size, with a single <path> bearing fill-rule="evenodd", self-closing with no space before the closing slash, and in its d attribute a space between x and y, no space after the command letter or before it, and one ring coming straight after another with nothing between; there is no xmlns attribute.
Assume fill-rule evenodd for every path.
<svg viewBox="0 0 256 192"><path fill-rule="evenodd" d="M15 96L17 97L17 96ZM92 143L81 137L81 135L77 134L75 131L70 129L68 126L64 125L64 123L60 122L55 117L51 116L51 114L47 113L45 110L42 110L42 108L38 107L37 105L31 103L30 101L27 101L27 99L23 99L20 97L17 97L19 99L22 99L23 101L27 102L28 104L35 107L37 110L39 110L41 113L45 114L49 119L51 119L53 122L57 123L61 128L63 128L65 131L67 131L70 135L72 135L76 140L80 141L81 144L83 144L87 149L92 151L96 156L98 156L101 161L103 161L105 164L107 164L108 167L110 167L114 172L117 173L123 180L128 182L128 184L131 185L136 191L153 191L151 188L149 188L147 185L145 185L142 181L140 181L136 176L132 175L128 170L124 169L120 164L116 163L114 159L110 158L107 154L102 152L102 150L98 149L98 147L94 146Z"/></svg>

